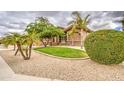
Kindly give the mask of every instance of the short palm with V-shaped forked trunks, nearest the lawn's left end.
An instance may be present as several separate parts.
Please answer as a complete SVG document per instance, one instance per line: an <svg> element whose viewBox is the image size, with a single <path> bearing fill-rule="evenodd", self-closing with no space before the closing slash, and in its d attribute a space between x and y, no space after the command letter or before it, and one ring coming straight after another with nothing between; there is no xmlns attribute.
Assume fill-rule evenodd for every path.
<svg viewBox="0 0 124 93"><path fill-rule="evenodd" d="M24 60L30 59L32 46L35 40L36 40L36 33L32 31L32 32L27 32L21 35L19 40L16 42L17 47L18 47L17 51L20 51Z"/></svg>

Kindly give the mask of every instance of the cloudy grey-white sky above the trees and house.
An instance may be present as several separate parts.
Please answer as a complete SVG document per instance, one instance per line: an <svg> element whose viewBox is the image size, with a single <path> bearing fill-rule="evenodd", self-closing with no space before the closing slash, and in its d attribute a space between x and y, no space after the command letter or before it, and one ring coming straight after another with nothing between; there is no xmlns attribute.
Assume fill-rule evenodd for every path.
<svg viewBox="0 0 124 93"><path fill-rule="evenodd" d="M36 17L45 16L55 25L66 27L72 20L72 11L1 11L0 12L0 36L8 32L22 33L27 24L33 22ZM123 11L80 11L82 18L90 14L92 30L98 29L119 29L124 16Z"/></svg>

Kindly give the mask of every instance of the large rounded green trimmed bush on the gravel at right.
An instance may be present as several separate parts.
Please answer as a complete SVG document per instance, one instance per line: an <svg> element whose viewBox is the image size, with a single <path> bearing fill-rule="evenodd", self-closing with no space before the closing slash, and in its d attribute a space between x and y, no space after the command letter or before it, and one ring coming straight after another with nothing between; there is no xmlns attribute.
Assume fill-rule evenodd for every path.
<svg viewBox="0 0 124 93"><path fill-rule="evenodd" d="M88 56L101 64L119 64L124 60L124 32L99 30L84 43Z"/></svg>

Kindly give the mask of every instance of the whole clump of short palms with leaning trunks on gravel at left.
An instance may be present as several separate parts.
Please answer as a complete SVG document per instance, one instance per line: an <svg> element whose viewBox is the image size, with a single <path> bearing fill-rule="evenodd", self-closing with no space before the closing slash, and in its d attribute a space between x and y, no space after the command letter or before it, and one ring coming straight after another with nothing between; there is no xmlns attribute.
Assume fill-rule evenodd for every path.
<svg viewBox="0 0 124 93"><path fill-rule="evenodd" d="M15 55L17 55L18 52L21 53L24 60L28 60L31 57L31 49L32 44L34 40L35 33L26 33L26 34L18 34L18 33L9 33L7 34L3 39L2 43L6 46L8 45L16 45L17 50L15 52ZM24 47L26 48L24 48Z"/></svg>

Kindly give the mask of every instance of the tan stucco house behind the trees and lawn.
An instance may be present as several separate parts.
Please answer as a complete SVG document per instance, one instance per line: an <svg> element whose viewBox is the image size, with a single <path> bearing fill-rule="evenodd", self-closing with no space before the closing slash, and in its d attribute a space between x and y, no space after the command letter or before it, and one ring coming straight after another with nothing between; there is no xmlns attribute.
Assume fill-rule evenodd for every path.
<svg viewBox="0 0 124 93"><path fill-rule="evenodd" d="M71 31L72 26L68 26L67 28L59 27L65 32L65 36L60 37L54 37L50 40L49 45L69 45L69 46L81 46L81 33L80 28L76 28L77 31L73 35L69 35L68 33ZM86 28L85 31L83 31L83 39L86 38L88 33L92 32L90 29Z"/></svg>

